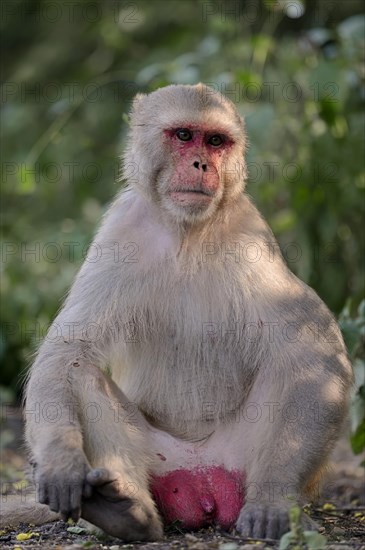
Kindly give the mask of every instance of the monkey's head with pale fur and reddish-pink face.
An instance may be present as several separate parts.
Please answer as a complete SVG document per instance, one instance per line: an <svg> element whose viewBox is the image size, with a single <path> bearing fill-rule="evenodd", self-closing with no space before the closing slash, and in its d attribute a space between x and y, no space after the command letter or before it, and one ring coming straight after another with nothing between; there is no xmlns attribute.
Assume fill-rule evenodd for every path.
<svg viewBox="0 0 365 550"><path fill-rule="evenodd" d="M235 106L208 86L138 94L124 177L174 220L203 221L242 192L245 142Z"/></svg>

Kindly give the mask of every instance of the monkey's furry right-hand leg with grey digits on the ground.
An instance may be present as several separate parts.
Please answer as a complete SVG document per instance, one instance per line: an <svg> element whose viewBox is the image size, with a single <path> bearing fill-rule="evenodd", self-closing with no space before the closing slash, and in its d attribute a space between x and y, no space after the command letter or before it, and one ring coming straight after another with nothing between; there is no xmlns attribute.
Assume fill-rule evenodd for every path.
<svg viewBox="0 0 365 550"><path fill-rule="evenodd" d="M313 365L294 383L279 368L277 378L263 371L250 394L249 404L260 406L262 415L244 423L241 436L248 451L246 502L237 521L243 536L276 539L289 530L288 511L301 502L339 435L346 411L343 384L329 367ZM304 513L302 526L316 528Z"/></svg>

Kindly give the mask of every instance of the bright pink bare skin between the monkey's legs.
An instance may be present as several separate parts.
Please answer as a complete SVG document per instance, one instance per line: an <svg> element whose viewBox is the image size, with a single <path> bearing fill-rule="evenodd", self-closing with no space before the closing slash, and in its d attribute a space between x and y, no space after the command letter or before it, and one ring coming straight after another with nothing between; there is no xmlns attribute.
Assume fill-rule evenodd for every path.
<svg viewBox="0 0 365 550"><path fill-rule="evenodd" d="M244 480L242 472L206 466L155 476L151 490L166 523L178 520L187 529L229 529L243 505Z"/></svg>

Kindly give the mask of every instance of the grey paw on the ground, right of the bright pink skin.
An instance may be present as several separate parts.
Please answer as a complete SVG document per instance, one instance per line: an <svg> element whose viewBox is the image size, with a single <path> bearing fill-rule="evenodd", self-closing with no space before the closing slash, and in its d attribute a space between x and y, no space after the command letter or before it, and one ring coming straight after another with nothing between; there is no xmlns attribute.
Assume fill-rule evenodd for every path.
<svg viewBox="0 0 365 550"><path fill-rule="evenodd" d="M236 529L243 537L279 539L290 530L289 509L293 503L245 504L237 520ZM309 516L301 514L305 531L314 531L317 524Z"/></svg>

